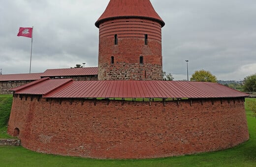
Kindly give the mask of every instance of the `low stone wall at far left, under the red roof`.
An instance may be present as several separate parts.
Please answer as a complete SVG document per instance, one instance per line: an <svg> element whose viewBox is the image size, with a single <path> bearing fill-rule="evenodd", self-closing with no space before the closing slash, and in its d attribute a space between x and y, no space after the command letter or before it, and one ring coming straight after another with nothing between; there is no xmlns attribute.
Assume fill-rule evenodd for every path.
<svg viewBox="0 0 256 167"><path fill-rule="evenodd" d="M32 81L0 81L0 94L12 94L11 88L22 86Z"/></svg>

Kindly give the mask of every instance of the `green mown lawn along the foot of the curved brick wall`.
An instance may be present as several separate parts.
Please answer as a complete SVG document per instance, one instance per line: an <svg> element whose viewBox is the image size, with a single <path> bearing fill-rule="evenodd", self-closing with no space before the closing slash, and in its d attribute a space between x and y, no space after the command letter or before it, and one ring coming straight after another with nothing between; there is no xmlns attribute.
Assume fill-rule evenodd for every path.
<svg viewBox="0 0 256 167"><path fill-rule="evenodd" d="M41 154L22 146L0 146L0 167L256 167L256 118L248 107L246 114L250 139L223 151L160 159L96 160Z"/></svg>

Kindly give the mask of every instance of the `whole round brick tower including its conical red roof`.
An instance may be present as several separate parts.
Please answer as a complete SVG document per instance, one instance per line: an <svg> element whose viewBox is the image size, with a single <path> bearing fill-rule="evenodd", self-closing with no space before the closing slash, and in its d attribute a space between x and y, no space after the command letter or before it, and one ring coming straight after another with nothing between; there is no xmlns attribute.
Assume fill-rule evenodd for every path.
<svg viewBox="0 0 256 167"><path fill-rule="evenodd" d="M164 22L150 0L110 0L95 25L98 80L162 80Z"/></svg>

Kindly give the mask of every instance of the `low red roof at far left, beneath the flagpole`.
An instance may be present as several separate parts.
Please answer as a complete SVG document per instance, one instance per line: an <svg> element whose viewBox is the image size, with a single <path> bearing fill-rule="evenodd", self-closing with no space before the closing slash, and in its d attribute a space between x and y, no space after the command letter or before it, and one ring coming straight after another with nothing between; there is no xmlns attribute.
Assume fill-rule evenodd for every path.
<svg viewBox="0 0 256 167"><path fill-rule="evenodd" d="M33 81L39 80L43 73L31 74L5 74L0 75L0 81Z"/></svg>

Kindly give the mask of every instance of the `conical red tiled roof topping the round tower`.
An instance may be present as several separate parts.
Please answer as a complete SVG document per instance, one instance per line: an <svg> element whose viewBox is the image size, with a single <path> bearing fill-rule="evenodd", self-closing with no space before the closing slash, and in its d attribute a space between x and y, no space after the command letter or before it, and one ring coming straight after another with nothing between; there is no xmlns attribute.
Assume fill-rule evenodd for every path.
<svg viewBox="0 0 256 167"><path fill-rule="evenodd" d="M95 26L98 28L99 23L106 19L116 17L144 17L155 19L164 26L164 22L155 11L150 0L110 0L103 14L96 21Z"/></svg>

